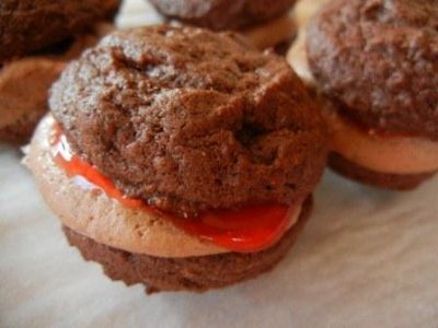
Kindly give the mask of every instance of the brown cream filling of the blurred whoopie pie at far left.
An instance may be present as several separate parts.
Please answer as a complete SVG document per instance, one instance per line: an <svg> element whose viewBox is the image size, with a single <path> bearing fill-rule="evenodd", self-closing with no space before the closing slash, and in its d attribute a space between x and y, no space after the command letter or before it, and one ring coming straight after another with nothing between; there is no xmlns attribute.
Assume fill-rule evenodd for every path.
<svg viewBox="0 0 438 328"><path fill-rule="evenodd" d="M91 34L79 37L61 55L28 56L5 62L0 69L0 129L47 108L47 91L66 63L94 45L112 30L102 23Z"/></svg>

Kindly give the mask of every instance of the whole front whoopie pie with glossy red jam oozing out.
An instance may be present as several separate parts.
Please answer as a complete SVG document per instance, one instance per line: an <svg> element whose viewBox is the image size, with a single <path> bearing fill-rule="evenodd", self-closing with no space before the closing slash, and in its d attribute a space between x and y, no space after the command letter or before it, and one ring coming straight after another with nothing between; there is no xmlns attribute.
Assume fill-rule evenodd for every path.
<svg viewBox="0 0 438 328"><path fill-rule="evenodd" d="M26 160L71 245L148 292L272 269L302 230L326 131L280 57L233 34L114 32L51 91Z"/></svg>

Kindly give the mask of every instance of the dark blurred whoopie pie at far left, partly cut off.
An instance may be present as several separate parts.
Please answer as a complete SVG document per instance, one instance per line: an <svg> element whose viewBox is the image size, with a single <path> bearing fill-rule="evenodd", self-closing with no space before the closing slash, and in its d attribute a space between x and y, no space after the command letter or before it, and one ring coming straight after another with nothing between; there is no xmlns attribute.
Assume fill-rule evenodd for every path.
<svg viewBox="0 0 438 328"><path fill-rule="evenodd" d="M0 1L0 140L28 141L66 62L111 26L119 0Z"/></svg>

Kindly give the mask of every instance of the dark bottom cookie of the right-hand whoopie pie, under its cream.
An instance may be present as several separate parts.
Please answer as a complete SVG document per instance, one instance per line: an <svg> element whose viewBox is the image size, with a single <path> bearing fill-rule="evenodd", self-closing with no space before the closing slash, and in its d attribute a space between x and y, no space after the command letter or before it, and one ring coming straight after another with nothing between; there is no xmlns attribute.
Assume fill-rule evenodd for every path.
<svg viewBox="0 0 438 328"><path fill-rule="evenodd" d="M394 190L414 189L436 173L404 175L378 173L355 164L337 153L331 153L328 155L328 166L333 171L350 179Z"/></svg>

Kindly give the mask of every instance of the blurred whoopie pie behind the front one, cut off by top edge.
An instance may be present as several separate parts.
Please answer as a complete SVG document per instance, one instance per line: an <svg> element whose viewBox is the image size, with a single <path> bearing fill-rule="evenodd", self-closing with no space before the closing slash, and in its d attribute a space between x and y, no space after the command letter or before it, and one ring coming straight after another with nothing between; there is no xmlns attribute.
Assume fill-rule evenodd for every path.
<svg viewBox="0 0 438 328"><path fill-rule="evenodd" d="M239 31L260 49L281 50L296 36L296 0L149 0L164 16L214 31ZM286 48L287 49L287 48Z"/></svg>

